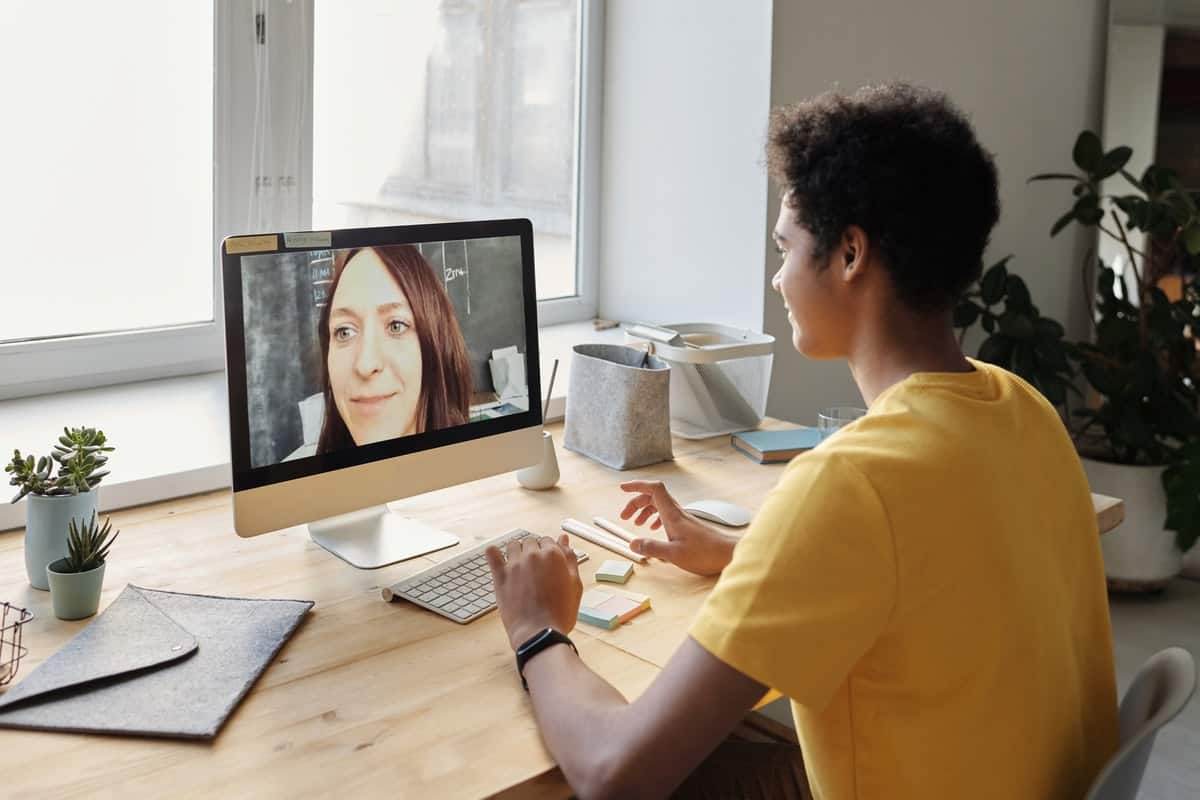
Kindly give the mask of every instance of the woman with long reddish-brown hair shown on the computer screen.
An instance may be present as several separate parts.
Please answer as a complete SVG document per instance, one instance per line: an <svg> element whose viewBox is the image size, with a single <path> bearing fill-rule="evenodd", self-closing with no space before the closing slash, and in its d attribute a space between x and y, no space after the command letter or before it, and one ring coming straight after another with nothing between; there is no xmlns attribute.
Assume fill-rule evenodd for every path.
<svg viewBox="0 0 1200 800"><path fill-rule="evenodd" d="M325 419L317 452L469 419L467 344L445 289L416 247L335 251L318 336Z"/></svg>

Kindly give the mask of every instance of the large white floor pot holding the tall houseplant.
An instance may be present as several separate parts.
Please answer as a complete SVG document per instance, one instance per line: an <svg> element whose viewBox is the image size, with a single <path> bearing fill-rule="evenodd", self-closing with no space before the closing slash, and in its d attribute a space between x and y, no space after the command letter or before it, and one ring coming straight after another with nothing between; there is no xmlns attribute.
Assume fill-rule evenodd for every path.
<svg viewBox="0 0 1200 800"><path fill-rule="evenodd" d="M1124 501L1126 518L1100 536L1104 573L1114 591L1158 591L1183 567L1175 531L1163 528L1163 467L1130 467L1084 458L1093 492Z"/></svg>

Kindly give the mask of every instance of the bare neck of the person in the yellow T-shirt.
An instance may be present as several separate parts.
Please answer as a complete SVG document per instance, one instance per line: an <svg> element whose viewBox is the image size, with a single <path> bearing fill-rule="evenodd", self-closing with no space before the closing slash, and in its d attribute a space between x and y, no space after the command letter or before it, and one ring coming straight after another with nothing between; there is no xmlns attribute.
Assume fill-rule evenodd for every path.
<svg viewBox="0 0 1200 800"><path fill-rule="evenodd" d="M850 372L870 405L875 398L917 372L971 372L949 315L890 313L864 325L847 359Z"/></svg>

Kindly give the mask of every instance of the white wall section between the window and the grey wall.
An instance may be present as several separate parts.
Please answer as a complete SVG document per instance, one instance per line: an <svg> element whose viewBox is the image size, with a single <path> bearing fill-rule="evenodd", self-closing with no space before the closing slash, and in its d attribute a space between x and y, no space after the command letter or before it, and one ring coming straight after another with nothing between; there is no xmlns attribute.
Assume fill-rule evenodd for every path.
<svg viewBox="0 0 1200 800"><path fill-rule="evenodd" d="M770 0L610 0L600 317L761 330Z"/></svg>

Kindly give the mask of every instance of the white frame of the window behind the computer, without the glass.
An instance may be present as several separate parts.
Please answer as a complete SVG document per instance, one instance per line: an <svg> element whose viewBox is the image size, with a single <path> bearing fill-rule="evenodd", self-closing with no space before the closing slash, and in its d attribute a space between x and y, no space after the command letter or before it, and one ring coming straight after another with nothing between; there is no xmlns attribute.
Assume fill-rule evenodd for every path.
<svg viewBox="0 0 1200 800"><path fill-rule="evenodd" d="M212 311L206 323L118 333L68 336L36 342L0 344L0 399L48 395L77 389L170 378L224 368L224 306L221 295L220 242L224 233L240 230L245 219L245 187L250 178L238 175L236 145L245 138L246 108L253 108L253 80L235 80L236 62L252 61L253 36L235 35L239 14L253 24L253 8L241 0L214 0L214 196L212 196ZM538 303L539 325L556 325L595 315L599 264L600 136L604 86L604 0L578 0L580 60L576 73L578 151L575 164L576 295ZM307 14L304 29L310 41L292 53L305 53L312 73L313 0L283 6L280 0L258 0L269 13ZM307 86L307 130L298 175L300 203L311 224L312 209L312 80ZM136 221L131 221L131 227ZM286 225L280 225L286 227ZM223 231L223 233L222 233ZM536 254L535 254L536 255Z"/></svg>

